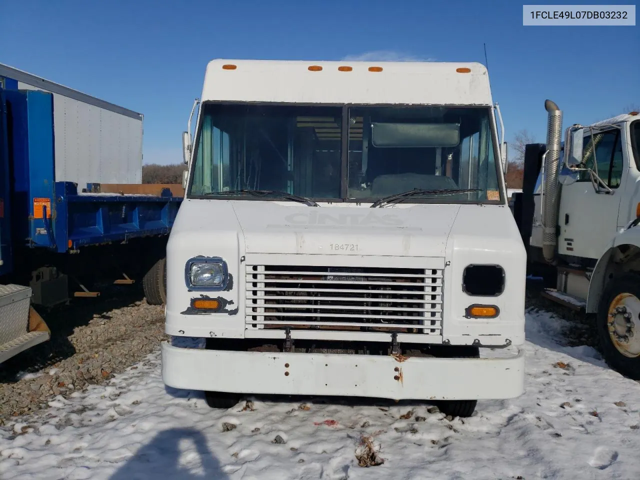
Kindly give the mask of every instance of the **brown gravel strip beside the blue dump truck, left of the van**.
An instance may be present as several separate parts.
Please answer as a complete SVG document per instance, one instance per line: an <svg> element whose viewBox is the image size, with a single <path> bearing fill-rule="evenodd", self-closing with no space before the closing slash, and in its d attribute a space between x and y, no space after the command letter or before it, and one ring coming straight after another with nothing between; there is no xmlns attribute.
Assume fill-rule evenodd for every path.
<svg viewBox="0 0 640 480"><path fill-rule="evenodd" d="M91 308L96 309L99 305ZM58 395L68 397L87 385L108 380L168 339L164 334L164 307L146 301L132 301L101 313L87 312L86 305L69 308L52 315L51 323L43 316L52 339L42 348L0 365L0 425L8 417L46 408L47 402ZM58 318L66 320L61 322L64 325L58 324ZM78 322L78 318L82 320ZM65 326L67 332L61 334Z"/></svg>

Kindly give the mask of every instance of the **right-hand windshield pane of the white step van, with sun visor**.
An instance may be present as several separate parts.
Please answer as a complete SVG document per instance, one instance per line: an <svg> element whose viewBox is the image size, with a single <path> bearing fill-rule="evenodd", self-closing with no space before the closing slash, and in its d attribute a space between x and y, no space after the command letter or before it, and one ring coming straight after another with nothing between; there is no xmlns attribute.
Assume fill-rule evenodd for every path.
<svg viewBox="0 0 640 480"><path fill-rule="evenodd" d="M349 198L415 188L478 190L422 196L439 202L500 200L490 125L488 108L349 109Z"/></svg>

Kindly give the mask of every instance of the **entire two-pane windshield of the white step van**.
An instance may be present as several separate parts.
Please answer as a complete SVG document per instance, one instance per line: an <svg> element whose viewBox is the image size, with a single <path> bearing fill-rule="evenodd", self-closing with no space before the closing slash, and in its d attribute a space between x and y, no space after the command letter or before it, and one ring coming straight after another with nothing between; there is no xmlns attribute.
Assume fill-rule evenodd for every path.
<svg viewBox="0 0 640 480"><path fill-rule="evenodd" d="M489 108L211 103L200 118L190 196L255 200L243 193L253 189L374 201L412 189L477 189L404 203L500 200Z"/></svg>

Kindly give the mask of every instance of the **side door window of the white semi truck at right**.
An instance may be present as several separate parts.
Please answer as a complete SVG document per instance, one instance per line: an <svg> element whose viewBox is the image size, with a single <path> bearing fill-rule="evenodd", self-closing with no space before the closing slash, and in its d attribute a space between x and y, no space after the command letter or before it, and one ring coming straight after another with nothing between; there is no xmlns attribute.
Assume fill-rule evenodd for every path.
<svg viewBox="0 0 640 480"><path fill-rule="evenodd" d="M585 136L582 145L584 145L582 149L584 168L595 170L609 188L618 188L623 168L620 131L615 129L595 132L592 135ZM590 182L589 172L580 172L578 181Z"/></svg>

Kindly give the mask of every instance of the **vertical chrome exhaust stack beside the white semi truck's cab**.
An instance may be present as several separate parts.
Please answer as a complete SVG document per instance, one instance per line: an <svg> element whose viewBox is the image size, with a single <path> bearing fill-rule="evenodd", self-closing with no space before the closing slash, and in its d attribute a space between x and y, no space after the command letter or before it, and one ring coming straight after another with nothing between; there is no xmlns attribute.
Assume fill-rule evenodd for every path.
<svg viewBox="0 0 640 480"><path fill-rule="evenodd" d="M545 101L548 112L547 153L545 153L543 171L544 190L542 195L542 253L545 260L552 262L556 257L557 220L558 220L558 161L562 141L562 111L551 100Z"/></svg>

